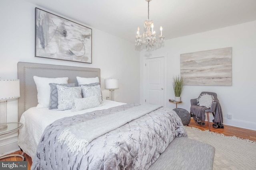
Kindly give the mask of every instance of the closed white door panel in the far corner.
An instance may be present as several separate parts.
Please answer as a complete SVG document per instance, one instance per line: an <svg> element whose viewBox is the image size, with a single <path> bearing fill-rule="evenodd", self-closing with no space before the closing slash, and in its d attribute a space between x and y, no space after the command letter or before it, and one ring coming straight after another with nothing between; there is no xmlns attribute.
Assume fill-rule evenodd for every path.
<svg viewBox="0 0 256 170"><path fill-rule="evenodd" d="M146 59L146 104L164 106L164 57Z"/></svg>

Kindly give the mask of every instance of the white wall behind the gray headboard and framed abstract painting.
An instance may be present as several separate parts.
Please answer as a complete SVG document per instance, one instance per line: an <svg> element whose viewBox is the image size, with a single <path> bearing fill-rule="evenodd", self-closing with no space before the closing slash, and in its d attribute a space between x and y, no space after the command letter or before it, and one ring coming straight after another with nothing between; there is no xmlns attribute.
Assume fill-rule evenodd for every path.
<svg viewBox="0 0 256 170"><path fill-rule="evenodd" d="M134 50L134 43L85 25L92 28L92 64L34 57L35 7L40 8L23 0L0 1L0 77L2 79L17 78L19 61L100 68L104 99L109 96L109 91L104 89L104 79L118 78L119 89L115 90L115 100L125 103L139 102L140 85L133 82L139 82L140 54ZM67 16L62 17L69 19ZM18 121L18 100L9 100L7 107L7 121ZM0 155L16 150L17 145L11 145L16 141L17 133L1 136Z"/></svg>

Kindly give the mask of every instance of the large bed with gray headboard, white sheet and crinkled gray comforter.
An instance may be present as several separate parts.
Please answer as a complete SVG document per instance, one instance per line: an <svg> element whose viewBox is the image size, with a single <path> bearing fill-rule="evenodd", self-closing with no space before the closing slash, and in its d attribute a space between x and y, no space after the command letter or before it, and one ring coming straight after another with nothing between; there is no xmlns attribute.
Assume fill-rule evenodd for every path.
<svg viewBox="0 0 256 170"><path fill-rule="evenodd" d="M178 115L161 106L150 110L151 106L103 100L98 107L81 111L38 109L33 76L65 76L68 83L78 86L76 76L100 80L100 69L18 63L19 118L24 124L19 131L18 145L32 157L32 169L148 169L175 137L187 136ZM148 111L144 111L144 107ZM138 108L143 111L137 111ZM131 115L136 119L132 117L127 121ZM84 128L87 122L91 124ZM108 123L121 124L108 127ZM112 130L104 132L109 128ZM102 134L83 147L77 144L74 148L76 143L70 140L74 134L71 138L67 138L68 135L61 138L66 129L73 129L72 133L78 138L87 133L94 136L98 131Z"/></svg>

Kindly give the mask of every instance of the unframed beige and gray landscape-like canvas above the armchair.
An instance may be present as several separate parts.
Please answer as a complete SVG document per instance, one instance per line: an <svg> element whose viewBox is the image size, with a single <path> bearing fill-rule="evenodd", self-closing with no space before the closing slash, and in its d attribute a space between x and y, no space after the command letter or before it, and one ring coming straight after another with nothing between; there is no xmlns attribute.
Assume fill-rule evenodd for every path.
<svg viewBox="0 0 256 170"><path fill-rule="evenodd" d="M180 55L186 85L232 86L232 47Z"/></svg>

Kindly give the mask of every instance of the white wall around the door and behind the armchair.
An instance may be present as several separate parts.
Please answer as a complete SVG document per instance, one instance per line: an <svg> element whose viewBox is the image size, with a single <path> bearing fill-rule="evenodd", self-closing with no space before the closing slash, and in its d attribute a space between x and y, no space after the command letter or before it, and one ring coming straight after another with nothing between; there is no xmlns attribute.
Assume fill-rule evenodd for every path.
<svg viewBox="0 0 256 170"><path fill-rule="evenodd" d="M150 55L142 51L140 58L143 61L148 56L167 55L167 96L168 99L174 99L172 77L180 74L180 54L232 47L232 86L186 86L181 95L183 103L178 104L178 107L190 111L190 99L197 98L202 91L216 92L222 106L225 125L256 130L255 30L256 21L252 21L169 39L164 42L163 48L152 51ZM141 80L144 78L142 68L141 64ZM144 100L143 95L141 81L141 102ZM167 107L175 108L175 104L166 102ZM227 114L232 114L232 119L227 119Z"/></svg>

